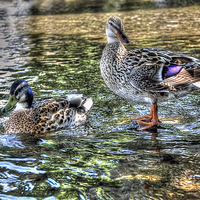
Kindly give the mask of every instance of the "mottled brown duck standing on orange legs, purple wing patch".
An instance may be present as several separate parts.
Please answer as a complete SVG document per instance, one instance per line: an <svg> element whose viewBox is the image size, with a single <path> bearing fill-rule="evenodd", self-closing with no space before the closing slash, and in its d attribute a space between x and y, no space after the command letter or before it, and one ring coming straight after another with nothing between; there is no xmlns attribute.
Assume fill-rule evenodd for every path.
<svg viewBox="0 0 200 200"><path fill-rule="evenodd" d="M156 48L127 51L130 40L119 17L108 20L108 44L103 50L100 70L107 86L117 95L135 103L151 103L149 115L138 117L140 130L160 120L157 103L183 97L200 88L200 63L196 58Z"/></svg>

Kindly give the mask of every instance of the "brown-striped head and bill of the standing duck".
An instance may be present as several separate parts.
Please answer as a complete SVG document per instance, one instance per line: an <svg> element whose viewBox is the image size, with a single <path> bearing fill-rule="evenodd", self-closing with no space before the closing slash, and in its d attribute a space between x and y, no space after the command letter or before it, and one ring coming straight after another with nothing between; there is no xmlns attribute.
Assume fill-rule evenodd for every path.
<svg viewBox="0 0 200 200"><path fill-rule="evenodd" d="M125 29L122 24L122 20L115 16L108 20L108 26L106 27L106 34L108 38L108 43L119 42L129 43L130 40L125 35Z"/></svg>

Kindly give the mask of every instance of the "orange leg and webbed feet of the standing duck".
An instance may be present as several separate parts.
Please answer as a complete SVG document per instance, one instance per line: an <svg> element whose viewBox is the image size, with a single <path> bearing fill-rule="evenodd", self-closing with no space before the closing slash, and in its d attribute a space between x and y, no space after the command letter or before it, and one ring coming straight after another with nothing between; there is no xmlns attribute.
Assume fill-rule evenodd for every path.
<svg viewBox="0 0 200 200"><path fill-rule="evenodd" d="M158 123L161 123L161 121L158 119L157 104L151 105L151 111L149 115L144 115L134 120L138 120L137 123L140 130L145 130L157 125Z"/></svg>

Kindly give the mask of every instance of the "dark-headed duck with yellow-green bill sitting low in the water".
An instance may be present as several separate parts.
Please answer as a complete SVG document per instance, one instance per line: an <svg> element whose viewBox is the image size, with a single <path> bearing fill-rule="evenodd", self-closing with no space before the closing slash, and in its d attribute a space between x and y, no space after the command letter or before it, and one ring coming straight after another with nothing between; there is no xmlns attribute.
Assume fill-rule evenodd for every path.
<svg viewBox="0 0 200 200"><path fill-rule="evenodd" d="M25 80L15 81L10 88L10 99L2 112L16 106L5 124L5 133L43 135L52 131L80 125L92 108L92 99L73 90L65 97L33 99L33 92Z"/></svg>

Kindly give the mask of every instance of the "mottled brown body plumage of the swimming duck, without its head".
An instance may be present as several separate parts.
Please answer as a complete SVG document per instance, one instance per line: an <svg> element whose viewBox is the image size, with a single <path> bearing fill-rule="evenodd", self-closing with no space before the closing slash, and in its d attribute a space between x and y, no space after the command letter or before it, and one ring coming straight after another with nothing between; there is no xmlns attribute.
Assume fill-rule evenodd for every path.
<svg viewBox="0 0 200 200"><path fill-rule="evenodd" d="M66 98L40 98L33 101L30 109L13 111L6 122L5 133L44 135L85 122L88 110L84 105L89 101L91 108L92 100L83 98L82 106L77 108L70 107Z"/></svg>

